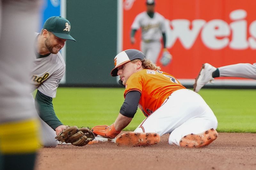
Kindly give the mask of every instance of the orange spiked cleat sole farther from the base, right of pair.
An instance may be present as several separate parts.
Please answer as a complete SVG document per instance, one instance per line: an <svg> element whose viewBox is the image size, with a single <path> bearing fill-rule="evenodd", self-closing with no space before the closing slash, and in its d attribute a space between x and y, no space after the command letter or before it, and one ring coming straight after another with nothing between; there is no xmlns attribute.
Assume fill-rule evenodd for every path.
<svg viewBox="0 0 256 170"><path fill-rule="evenodd" d="M189 134L181 138L180 146L187 148L204 147L212 143L218 137L218 132L215 129L209 129L200 134Z"/></svg>

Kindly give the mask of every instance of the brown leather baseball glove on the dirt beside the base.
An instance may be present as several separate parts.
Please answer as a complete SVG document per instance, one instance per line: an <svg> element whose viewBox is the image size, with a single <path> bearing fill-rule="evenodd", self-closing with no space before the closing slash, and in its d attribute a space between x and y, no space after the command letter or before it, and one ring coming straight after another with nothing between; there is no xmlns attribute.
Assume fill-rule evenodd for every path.
<svg viewBox="0 0 256 170"><path fill-rule="evenodd" d="M75 146L84 146L95 138L89 128L77 128L77 126L67 126L58 136L55 137L60 142L71 143Z"/></svg>

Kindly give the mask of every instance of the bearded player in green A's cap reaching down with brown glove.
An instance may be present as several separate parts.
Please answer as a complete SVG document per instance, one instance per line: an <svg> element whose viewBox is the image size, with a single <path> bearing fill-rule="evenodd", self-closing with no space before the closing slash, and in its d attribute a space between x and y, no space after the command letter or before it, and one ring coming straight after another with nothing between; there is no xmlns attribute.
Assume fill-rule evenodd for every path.
<svg viewBox="0 0 256 170"><path fill-rule="evenodd" d="M67 19L55 16L48 18L41 33L36 33L35 35L36 52L31 73L31 83L34 86L33 90L37 89L35 105L41 118L42 145L46 147L56 147L57 140L82 146L94 139L87 128L78 129L77 127L70 128L63 125L57 118L52 105L52 98L56 97L56 90L60 80L63 78L66 66L60 55L60 49L64 47L66 40L76 41L70 35L70 29L70 22ZM66 131L63 132L65 129ZM71 134L70 131L72 132ZM79 133L75 137L78 142L75 142L76 140L65 140L67 139L65 135L69 133L70 136L76 132ZM87 134L87 136L84 134Z"/></svg>

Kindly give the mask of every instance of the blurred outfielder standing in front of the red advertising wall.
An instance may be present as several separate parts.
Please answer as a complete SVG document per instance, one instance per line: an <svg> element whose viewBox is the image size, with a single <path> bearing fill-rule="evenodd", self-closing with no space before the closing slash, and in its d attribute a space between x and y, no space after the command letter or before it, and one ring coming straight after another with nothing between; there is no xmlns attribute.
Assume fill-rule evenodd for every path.
<svg viewBox="0 0 256 170"><path fill-rule="evenodd" d="M150 59L153 63L156 63L157 57L161 51L161 39L163 37L164 52L168 52L166 44L164 17L155 12L155 1L147 0L147 11L138 14L131 26L131 43L135 43L134 35L138 29L141 28L140 43L141 51L146 55L147 59ZM168 52L169 53L169 52ZM161 59L163 65L167 65L171 60L170 53Z"/></svg>

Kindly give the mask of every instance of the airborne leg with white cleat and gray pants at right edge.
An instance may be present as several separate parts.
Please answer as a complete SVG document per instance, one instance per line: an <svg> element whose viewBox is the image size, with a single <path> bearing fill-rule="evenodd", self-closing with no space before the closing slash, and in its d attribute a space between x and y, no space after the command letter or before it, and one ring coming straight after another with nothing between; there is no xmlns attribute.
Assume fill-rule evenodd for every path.
<svg viewBox="0 0 256 170"><path fill-rule="evenodd" d="M219 68L204 63L195 80L194 91L199 92L206 83L212 82L217 77L241 77L256 80L256 63L238 63Z"/></svg>

